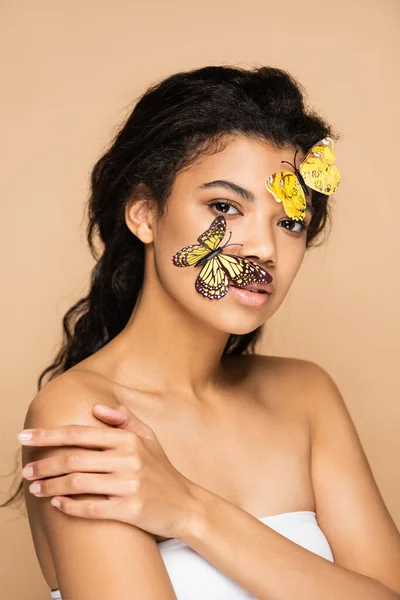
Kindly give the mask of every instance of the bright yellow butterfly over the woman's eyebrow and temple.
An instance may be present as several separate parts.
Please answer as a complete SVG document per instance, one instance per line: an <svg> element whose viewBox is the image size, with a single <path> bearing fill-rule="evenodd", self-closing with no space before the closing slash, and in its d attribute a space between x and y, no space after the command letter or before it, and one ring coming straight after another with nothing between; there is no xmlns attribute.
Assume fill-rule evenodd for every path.
<svg viewBox="0 0 400 600"><path fill-rule="evenodd" d="M306 214L306 196L309 195L307 185L323 194L333 194L340 183L340 173L335 162L333 151L333 140L329 137L317 142L306 154L299 168L296 167L296 155L294 165L286 160L294 168L291 171L280 171L268 177L265 185L277 202L283 202L283 209L291 219L302 221Z"/></svg>

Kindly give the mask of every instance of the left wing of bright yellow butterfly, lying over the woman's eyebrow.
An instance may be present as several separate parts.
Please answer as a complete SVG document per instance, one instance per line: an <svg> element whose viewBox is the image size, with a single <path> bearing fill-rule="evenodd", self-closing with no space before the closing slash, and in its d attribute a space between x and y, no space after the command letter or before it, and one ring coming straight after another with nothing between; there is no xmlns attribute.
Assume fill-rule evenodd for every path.
<svg viewBox="0 0 400 600"><path fill-rule="evenodd" d="M300 181L291 171L280 171L265 182L277 202L283 203L285 213L294 221L302 221L306 214L306 198Z"/></svg>

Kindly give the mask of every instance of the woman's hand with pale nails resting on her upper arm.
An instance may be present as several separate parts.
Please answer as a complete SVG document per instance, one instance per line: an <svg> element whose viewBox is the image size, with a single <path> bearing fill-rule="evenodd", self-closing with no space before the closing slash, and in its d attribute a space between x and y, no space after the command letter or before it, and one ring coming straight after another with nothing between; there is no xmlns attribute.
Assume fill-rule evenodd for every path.
<svg viewBox="0 0 400 600"><path fill-rule="evenodd" d="M151 427L128 408L94 404L93 413L110 427L67 425L26 430L32 433L29 440L18 436L29 446L96 448L80 454L71 450L25 465L22 475L40 484L40 493L30 491L55 496L59 510L72 516L123 521L154 535L179 538L196 510L194 483L175 469ZM30 476L28 467L33 469ZM47 477L51 479L42 479ZM65 497L71 494L105 498Z"/></svg>

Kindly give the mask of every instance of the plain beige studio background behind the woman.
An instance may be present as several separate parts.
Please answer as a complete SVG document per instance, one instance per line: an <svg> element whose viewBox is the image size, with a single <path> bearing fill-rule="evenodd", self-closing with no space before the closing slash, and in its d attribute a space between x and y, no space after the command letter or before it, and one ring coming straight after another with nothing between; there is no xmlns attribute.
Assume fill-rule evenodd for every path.
<svg viewBox="0 0 400 600"><path fill-rule="evenodd" d="M399 6L3 0L2 474L62 316L86 290L88 176L115 127L173 72L266 64L291 71L341 133L342 183L330 238L309 251L261 351L311 359L333 376L400 526ZM0 483L4 501L11 480ZM50 598L27 519L2 509L0 531L0 600Z"/></svg>

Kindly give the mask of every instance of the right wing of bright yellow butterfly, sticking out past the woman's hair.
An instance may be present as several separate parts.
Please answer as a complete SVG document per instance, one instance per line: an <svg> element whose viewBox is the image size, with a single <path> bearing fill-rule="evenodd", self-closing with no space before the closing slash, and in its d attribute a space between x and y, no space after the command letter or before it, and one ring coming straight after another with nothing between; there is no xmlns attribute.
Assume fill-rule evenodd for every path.
<svg viewBox="0 0 400 600"><path fill-rule="evenodd" d="M335 159L333 140L329 137L311 148L299 167L308 187L323 194L333 194L340 183L339 169L333 164Z"/></svg>

